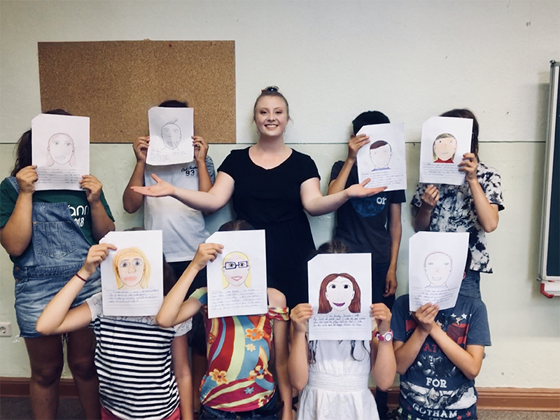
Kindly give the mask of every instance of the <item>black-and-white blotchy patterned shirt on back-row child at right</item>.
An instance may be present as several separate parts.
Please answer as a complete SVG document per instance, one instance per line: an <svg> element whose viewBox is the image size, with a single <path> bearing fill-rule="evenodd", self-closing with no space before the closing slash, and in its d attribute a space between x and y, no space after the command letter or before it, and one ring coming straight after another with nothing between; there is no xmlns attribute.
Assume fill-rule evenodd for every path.
<svg viewBox="0 0 560 420"><path fill-rule="evenodd" d="M478 164L477 179L490 204L496 204L498 211L504 209L501 179L496 169ZM422 194L428 184L419 183L412 197L412 205L420 207ZM440 190L440 200L435 204L430 221L431 232L469 232L469 248L472 254L470 269L491 273L490 256L486 249L486 235L478 221L475 200L465 181L461 186L436 184Z"/></svg>

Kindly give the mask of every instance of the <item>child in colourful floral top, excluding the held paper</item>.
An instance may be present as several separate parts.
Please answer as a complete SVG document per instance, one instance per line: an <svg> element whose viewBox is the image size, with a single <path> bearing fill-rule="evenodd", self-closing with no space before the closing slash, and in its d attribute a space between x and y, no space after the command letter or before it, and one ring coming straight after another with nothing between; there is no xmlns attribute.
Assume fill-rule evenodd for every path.
<svg viewBox="0 0 560 420"><path fill-rule="evenodd" d="M244 221L235 221L220 230L250 228ZM184 322L207 304L207 288L198 289L186 302L183 300L197 272L216 259L222 248L219 244L200 244L193 262L163 301L156 316L160 325L170 327ZM262 315L205 316L209 363L201 384L201 420L272 420L279 412L283 420L291 419L286 297L268 288L268 302L268 311ZM269 367L273 345L278 386ZM283 405L277 405L277 400Z"/></svg>

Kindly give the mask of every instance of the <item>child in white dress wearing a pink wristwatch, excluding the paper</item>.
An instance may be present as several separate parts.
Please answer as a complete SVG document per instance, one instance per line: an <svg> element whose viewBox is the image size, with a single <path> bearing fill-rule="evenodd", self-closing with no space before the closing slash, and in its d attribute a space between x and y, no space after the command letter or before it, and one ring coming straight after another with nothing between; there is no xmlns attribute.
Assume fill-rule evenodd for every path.
<svg viewBox="0 0 560 420"><path fill-rule="evenodd" d="M342 241L319 247L319 253L348 253ZM308 342L307 321L313 311L308 303L291 312L291 349L288 373L294 388L303 390L298 420L379 419L368 387L370 372L375 383L387 390L395 379L395 354L391 343L391 311L383 303L371 305L377 329L370 342L318 340Z"/></svg>

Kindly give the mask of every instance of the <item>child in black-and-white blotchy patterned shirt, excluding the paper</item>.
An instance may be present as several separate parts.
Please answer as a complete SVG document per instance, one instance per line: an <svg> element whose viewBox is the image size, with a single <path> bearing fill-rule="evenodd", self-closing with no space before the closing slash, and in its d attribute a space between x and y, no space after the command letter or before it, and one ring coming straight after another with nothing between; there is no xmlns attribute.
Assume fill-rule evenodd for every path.
<svg viewBox="0 0 560 420"><path fill-rule="evenodd" d="M459 293L480 299L480 273L492 272L485 234L496 230L498 211L504 209L501 179L496 169L479 162L479 125L475 114L468 109L453 109L441 116L472 119L470 153L465 153L458 165L465 173L465 183L461 186L419 184L412 198L412 205L417 209L414 230L470 233L472 262Z"/></svg>

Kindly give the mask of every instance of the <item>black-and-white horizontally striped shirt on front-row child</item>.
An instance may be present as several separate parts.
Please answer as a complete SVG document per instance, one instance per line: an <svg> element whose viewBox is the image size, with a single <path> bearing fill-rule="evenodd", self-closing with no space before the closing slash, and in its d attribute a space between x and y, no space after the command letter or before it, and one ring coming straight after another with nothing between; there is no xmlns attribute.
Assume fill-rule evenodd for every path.
<svg viewBox="0 0 560 420"><path fill-rule="evenodd" d="M102 294L87 300L97 346L99 399L125 420L163 419L179 405L171 343L191 328L186 321L161 328L153 316L104 316Z"/></svg>

